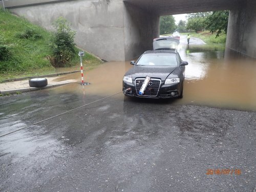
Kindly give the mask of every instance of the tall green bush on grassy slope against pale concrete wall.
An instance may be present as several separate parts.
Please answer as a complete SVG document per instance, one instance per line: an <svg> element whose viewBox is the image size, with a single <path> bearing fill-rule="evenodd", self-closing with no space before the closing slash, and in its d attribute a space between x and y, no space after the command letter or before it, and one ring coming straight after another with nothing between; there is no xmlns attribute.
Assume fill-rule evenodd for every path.
<svg viewBox="0 0 256 192"><path fill-rule="evenodd" d="M52 37L52 54L50 62L53 67L71 66L71 61L76 55L74 37L75 32L71 30L71 24L63 17L54 22L56 32Z"/></svg>

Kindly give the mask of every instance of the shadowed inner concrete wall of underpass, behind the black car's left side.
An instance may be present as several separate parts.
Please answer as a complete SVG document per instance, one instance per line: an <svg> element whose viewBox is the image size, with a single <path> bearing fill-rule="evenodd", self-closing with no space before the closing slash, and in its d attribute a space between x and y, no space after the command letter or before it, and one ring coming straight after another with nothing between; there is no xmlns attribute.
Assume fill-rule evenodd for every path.
<svg viewBox="0 0 256 192"><path fill-rule="evenodd" d="M159 37L159 16L124 3L125 60L153 49L153 39Z"/></svg>

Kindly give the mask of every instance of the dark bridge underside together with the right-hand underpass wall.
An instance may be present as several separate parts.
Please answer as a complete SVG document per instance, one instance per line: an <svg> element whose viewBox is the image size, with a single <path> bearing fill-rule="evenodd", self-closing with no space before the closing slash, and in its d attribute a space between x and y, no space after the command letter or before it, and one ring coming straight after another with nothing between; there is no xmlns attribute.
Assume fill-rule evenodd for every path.
<svg viewBox="0 0 256 192"><path fill-rule="evenodd" d="M230 10L226 49L256 58L255 0L124 0L155 15Z"/></svg>

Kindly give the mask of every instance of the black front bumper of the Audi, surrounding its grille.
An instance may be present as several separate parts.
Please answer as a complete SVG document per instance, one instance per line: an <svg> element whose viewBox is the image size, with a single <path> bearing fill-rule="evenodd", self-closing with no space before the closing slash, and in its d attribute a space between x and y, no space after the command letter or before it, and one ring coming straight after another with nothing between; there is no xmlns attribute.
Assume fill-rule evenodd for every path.
<svg viewBox="0 0 256 192"><path fill-rule="evenodd" d="M127 91L127 89L129 89ZM175 84L164 84L161 82L158 94L156 96L145 96L139 95L136 91L136 87L134 83L128 83L123 81L123 94L131 97L144 97L144 98L175 98L180 96L182 91L182 83Z"/></svg>

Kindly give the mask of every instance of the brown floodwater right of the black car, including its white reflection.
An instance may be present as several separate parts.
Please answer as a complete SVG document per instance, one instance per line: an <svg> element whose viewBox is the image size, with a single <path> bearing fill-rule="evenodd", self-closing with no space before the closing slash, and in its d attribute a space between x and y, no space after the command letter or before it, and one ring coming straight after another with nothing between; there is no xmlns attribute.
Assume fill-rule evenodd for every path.
<svg viewBox="0 0 256 192"><path fill-rule="evenodd" d="M256 61L226 58L223 47L186 46L184 99L179 102L239 110L256 110Z"/></svg>

